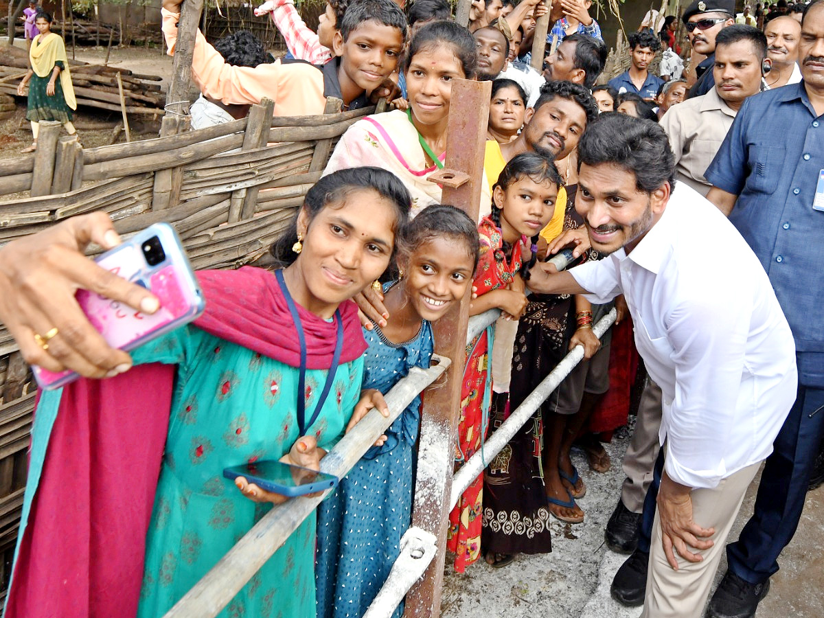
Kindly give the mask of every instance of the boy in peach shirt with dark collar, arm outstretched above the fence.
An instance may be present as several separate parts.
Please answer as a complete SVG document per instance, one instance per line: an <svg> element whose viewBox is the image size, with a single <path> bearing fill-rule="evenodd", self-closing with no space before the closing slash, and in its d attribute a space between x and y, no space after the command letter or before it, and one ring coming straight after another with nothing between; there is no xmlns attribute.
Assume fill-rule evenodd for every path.
<svg viewBox="0 0 824 618"><path fill-rule="evenodd" d="M163 34L174 54L178 11L182 0L164 0ZM274 115L322 114L327 96L344 101L344 110L369 104L398 64L406 34L406 16L391 0L357 0L347 8L340 30L332 37L337 58L316 67L308 63L232 67L198 32L192 56L192 77L200 91L226 104L274 101Z"/></svg>

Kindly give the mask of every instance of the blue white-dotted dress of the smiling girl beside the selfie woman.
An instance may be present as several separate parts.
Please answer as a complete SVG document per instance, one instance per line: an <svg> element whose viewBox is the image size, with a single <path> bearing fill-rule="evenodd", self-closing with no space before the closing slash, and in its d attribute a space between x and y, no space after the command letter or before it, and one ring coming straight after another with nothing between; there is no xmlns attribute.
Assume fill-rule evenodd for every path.
<svg viewBox="0 0 824 618"><path fill-rule="evenodd" d="M375 326L364 330L363 388L388 392L410 368L428 368L432 328L393 344ZM391 424L386 443L372 447L318 508L317 616L360 618L377 596L400 554L400 537L410 526L415 441L420 396ZM394 616L403 614L403 604Z"/></svg>

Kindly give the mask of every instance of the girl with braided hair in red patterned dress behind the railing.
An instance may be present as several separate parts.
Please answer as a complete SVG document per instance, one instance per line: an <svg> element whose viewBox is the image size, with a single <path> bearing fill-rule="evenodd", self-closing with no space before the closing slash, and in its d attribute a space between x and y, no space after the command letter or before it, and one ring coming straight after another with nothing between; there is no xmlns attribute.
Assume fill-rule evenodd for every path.
<svg viewBox="0 0 824 618"><path fill-rule="evenodd" d="M492 213L481 219L480 262L475 271L470 315L494 307L517 320L525 307L524 280L535 264L538 233L552 218L561 179L546 157L525 153L514 157L494 185ZM531 241L527 238L531 237ZM530 255L522 263L522 251ZM481 449L489 419L492 394L489 350L492 327L466 347L466 369L461 387L456 464ZM449 516L447 549L455 553L455 569L462 573L480 555L483 475L461 495Z"/></svg>

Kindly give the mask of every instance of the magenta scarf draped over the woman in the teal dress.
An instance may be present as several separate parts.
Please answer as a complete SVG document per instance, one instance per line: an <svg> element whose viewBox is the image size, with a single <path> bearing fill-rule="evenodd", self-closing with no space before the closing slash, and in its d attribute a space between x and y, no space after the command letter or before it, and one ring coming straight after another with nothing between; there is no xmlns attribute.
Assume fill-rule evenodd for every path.
<svg viewBox="0 0 824 618"><path fill-rule="evenodd" d="M196 326L297 367L295 327L272 273L212 270L198 278L206 311ZM335 324L302 307L298 311L307 367L329 368ZM349 363L367 346L354 303L342 303L340 313L340 362ZM175 371L171 365L140 365L109 380L65 387L14 566L6 618L137 613Z"/></svg>

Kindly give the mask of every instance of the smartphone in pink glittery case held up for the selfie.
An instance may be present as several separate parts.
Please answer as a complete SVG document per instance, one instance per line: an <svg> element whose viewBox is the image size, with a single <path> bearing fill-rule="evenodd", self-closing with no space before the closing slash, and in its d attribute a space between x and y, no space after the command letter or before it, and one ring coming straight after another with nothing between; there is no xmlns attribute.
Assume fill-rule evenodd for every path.
<svg viewBox="0 0 824 618"><path fill-rule="evenodd" d="M197 319L204 311L203 293L180 238L168 223L147 227L95 261L119 277L147 288L160 300L160 309L148 316L100 294L77 291L77 303L113 348L137 348ZM33 367L32 371L40 387L46 390L59 388L78 377L75 372L55 373L40 367Z"/></svg>

